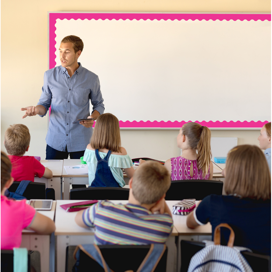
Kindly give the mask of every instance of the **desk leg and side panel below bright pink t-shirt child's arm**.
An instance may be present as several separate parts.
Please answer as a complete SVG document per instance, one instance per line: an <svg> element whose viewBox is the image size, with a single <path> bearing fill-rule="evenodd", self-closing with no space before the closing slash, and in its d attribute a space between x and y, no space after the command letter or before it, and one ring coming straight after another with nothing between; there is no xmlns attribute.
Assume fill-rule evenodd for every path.
<svg viewBox="0 0 272 272"><path fill-rule="evenodd" d="M49 272L50 235L22 235L21 248L39 251L40 271Z"/></svg>

